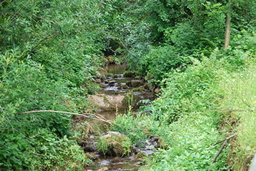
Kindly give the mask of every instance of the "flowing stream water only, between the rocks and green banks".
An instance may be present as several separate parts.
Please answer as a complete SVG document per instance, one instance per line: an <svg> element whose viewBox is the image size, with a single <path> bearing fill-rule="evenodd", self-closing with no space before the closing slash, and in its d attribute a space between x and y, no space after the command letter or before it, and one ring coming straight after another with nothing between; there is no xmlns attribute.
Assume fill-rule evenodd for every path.
<svg viewBox="0 0 256 171"><path fill-rule="evenodd" d="M122 88L126 83L132 80L131 77L124 77L123 73L125 71L125 66L123 65L110 65L105 66L105 72L107 72L105 80L102 81L102 91L99 91L99 94L107 94L109 96L116 96L118 94L126 94L132 87L126 86ZM133 92L136 96L137 101L140 99L154 99L155 96L149 91L135 91ZM125 111L119 111L118 113L125 113ZM99 112L104 118L108 120L114 120L116 118L116 110L110 111L101 111ZM139 151L146 153L153 153L156 147L156 140L146 140L142 142L145 148L136 148L137 153ZM94 161L94 164L91 164L89 167L86 167L86 170L100 170L102 168L108 170L138 170L141 166L140 161L135 160L135 153L132 153L129 157L114 157L114 156L102 156L99 153L94 153L98 156L98 159Z"/></svg>

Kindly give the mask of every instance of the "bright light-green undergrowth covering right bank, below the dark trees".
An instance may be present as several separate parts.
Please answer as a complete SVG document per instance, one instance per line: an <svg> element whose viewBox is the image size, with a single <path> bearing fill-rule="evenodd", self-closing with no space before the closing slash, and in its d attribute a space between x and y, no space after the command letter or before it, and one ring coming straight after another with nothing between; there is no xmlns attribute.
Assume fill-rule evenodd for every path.
<svg viewBox="0 0 256 171"><path fill-rule="evenodd" d="M167 142L167 150L149 157L143 170L241 170L250 163L255 153L255 53L216 49L210 58L201 58L191 58L185 71L167 74L161 96L147 107L150 115L128 113L114 121L113 129L134 143L151 136ZM220 127L230 117L227 111L240 118L235 130ZM234 145L211 164L221 146L213 144L234 132Z"/></svg>

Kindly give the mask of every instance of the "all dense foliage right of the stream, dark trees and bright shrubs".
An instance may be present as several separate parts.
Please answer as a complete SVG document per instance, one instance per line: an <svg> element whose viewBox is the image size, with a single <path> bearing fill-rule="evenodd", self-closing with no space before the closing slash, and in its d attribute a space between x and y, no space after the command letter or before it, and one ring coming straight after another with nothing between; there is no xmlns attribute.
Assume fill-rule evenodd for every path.
<svg viewBox="0 0 256 171"><path fill-rule="evenodd" d="M169 148L155 153L145 170L246 170L255 154L255 75L249 74L256 55L255 1L133 5L133 15L145 29L129 45L129 66L162 86L162 94L146 107L151 115L119 116L113 129L135 143L151 136L167 142ZM227 12L232 25L230 46L224 50ZM211 145L235 133L233 146L211 164L219 151Z"/></svg>

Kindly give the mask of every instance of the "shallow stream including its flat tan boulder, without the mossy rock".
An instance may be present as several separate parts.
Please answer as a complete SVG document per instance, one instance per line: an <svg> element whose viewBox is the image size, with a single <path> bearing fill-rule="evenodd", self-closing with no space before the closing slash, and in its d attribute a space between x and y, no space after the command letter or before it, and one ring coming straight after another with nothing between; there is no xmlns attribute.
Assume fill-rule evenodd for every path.
<svg viewBox="0 0 256 171"><path fill-rule="evenodd" d="M155 98L155 95L151 93L151 91L147 91L146 89L141 91L141 89L138 88L143 87L145 83L140 80L135 80L135 78L132 77L124 77L124 72L125 66L121 64L105 66L104 79L97 80L102 90L97 92L96 95L91 95L89 98L89 100L99 108L99 115L102 115L107 120L113 121L116 118L116 107L118 108L118 115L125 113L127 105L123 104L121 101L124 100L128 92L131 92L132 88L138 89L132 91L135 97L135 104L141 99L153 100ZM135 105L134 112L138 110L138 106L139 105ZM100 121L94 122L100 123ZM95 139L94 135L91 135L91 138ZM90 143L95 145L96 141ZM146 140L143 144L145 145L144 148L134 147L137 152L127 157L103 156L97 151L94 151L93 153L97 156L97 159L94 160L94 164L86 167L86 170L138 170L138 168L141 167L141 163L140 160L135 159L136 154L139 152L146 153L146 155L153 153L157 142L151 139Z"/></svg>

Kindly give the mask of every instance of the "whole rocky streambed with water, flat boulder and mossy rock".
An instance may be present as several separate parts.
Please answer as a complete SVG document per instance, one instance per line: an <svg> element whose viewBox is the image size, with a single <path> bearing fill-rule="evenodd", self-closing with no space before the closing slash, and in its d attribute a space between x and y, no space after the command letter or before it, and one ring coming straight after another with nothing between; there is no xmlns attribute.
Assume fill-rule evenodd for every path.
<svg viewBox="0 0 256 171"><path fill-rule="evenodd" d="M143 80L135 79L132 72L127 72L124 65L113 64L105 66L104 72L98 73L96 83L102 88L95 95L89 96L89 101L97 107L97 113L106 120L113 121L116 115L126 113L129 105L133 106L134 111L138 109L140 100L155 98L150 91L150 85ZM145 105L145 104L143 104ZM157 148L157 138L151 137L141 142L140 147L132 145L125 149L121 146L122 140L127 137L118 132L109 132L102 126L101 121L87 120L96 123L94 128L101 127L101 133L95 134L95 130L87 132L91 134L80 142L86 155L93 161L86 167L86 170L138 170L141 166L141 159ZM89 127L89 124L87 125ZM108 148L102 149L107 145L97 145L106 143ZM102 154L102 151L105 153ZM128 153L128 152L129 153ZM127 152L128 155L124 155Z"/></svg>

